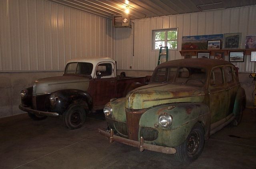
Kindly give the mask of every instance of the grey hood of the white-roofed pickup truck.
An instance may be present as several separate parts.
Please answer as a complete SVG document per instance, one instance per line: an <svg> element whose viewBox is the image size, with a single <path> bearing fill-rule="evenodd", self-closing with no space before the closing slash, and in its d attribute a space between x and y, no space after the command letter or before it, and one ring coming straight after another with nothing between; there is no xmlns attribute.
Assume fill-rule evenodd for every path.
<svg viewBox="0 0 256 169"><path fill-rule="evenodd" d="M42 78L34 83L33 95L52 93L62 89L80 89L86 91L89 78L82 76L57 76Z"/></svg>

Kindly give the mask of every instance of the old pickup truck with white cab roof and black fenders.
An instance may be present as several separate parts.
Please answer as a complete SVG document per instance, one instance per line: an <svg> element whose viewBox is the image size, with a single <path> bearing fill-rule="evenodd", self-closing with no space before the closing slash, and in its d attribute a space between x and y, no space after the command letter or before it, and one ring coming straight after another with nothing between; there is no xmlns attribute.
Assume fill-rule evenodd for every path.
<svg viewBox="0 0 256 169"><path fill-rule="evenodd" d="M76 58L67 62L63 76L36 80L22 90L19 108L34 120L62 116L66 127L76 129L84 124L86 113L103 109L111 98L124 97L149 79L126 77L124 72L117 76L111 58Z"/></svg>

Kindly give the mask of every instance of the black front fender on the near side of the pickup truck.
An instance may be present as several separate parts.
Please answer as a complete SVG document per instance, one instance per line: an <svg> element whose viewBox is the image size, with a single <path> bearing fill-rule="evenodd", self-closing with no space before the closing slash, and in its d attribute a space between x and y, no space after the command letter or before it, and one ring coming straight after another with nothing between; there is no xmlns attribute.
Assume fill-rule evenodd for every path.
<svg viewBox="0 0 256 169"><path fill-rule="evenodd" d="M88 110L92 109L92 97L86 91L79 89L63 89L55 91L52 94L54 94L57 99L54 105L51 105L50 100L48 99L48 104L46 105L46 107L48 107L48 111L62 114L71 104L82 105L84 109Z"/></svg>

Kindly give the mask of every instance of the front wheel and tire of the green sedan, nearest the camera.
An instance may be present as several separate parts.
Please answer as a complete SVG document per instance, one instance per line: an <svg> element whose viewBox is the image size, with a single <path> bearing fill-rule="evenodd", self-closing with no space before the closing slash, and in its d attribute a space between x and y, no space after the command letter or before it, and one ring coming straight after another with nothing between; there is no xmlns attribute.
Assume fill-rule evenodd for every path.
<svg viewBox="0 0 256 169"><path fill-rule="evenodd" d="M176 147L175 156L181 163L189 164L199 157L203 149L204 128L200 123L196 123L184 143Z"/></svg>

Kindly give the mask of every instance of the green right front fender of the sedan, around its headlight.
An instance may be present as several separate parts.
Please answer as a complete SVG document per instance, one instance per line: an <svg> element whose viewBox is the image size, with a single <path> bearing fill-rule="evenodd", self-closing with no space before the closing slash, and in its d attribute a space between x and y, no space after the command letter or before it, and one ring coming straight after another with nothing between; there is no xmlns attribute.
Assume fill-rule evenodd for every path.
<svg viewBox="0 0 256 169"><path fill-rule="evenodd" d="M163 113L172 116L170 127L164 128L160 125L158 118ZM210 110L204 103L171 103L156 106L142 114L139 124L140 128L150 127L159 131L158 138L154 141L157 145L164 143L162 146L175 147L186 140L192 127L198 122L205 130L205 139L208 139L210 136Z"/></svg>

